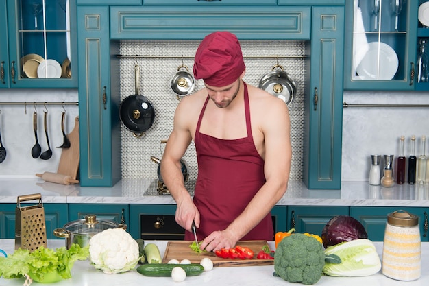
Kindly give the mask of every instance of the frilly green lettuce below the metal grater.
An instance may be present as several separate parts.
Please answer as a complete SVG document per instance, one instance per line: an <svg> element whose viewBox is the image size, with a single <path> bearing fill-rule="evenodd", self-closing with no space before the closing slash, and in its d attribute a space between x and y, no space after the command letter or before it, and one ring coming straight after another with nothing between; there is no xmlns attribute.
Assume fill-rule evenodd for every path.
<svg viewBox="0 0 429 286"><path fill-rule="evenodd" d="M0 277L5 279L21 278L28 274L34 281L51 283L71 278L71 268L77 260L85 260L89 256L89 246L81 248L72 244L52 250L40 247L33 252L17 249L7 258L0 257Z"/></svg>

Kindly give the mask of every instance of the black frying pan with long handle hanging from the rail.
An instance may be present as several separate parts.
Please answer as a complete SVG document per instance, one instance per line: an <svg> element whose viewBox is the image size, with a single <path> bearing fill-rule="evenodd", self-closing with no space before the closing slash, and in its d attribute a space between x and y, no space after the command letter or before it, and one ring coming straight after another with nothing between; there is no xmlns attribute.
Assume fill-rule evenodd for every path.
<svg viewBox="0 0 429 286"><path fill-rule="evenodd" d="M152 106L151 102L145 96L138 94L138 64L134 66L134 75L136 94L123 99L119 106L119 118L127 130L133 132L134 136L140 137L154 123L155 110L154 106Z"/></svg>

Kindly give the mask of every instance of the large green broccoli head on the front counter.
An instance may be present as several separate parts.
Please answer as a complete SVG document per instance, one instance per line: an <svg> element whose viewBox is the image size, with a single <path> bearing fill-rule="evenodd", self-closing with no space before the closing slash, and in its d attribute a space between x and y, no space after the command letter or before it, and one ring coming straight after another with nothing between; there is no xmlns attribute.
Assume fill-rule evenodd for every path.
<svg viewBox="0 0 429 286"><path fill-rule="evenodd" d="M302 233L284 237L274 254L274 276L291 283L312 285L319 281L325 252L317 239Z"/></svg>

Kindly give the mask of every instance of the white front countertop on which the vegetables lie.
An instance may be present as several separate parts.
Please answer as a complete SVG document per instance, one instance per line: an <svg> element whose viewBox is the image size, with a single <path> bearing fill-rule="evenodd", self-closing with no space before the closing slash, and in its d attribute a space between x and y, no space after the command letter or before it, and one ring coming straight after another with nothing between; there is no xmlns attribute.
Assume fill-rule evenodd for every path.
<svg viewBox="0 0 429 286"><path fill-rule="evenodd" d="M164 249L167 241L145 241L147 243L156 243L164 255ZM273 243L270 242L270 247ZM374 242L377 252L382 257L382 242ZM62 240L49 240L49 248L58 248L64 246ZM13 253L14 240L0 239L0 248L7 253ZM421 243L421 278L416 281L396 281L384 276L381 271L377 274L365 277L330 277L322 276L315 285L326 286L362 286L362 285L377 285L377 286L423 286L429 283L429 242ZM180 259L180 258L179 258ZM186 285L186 286L284 286L284 285L302 285L299 283L289 283L282 278L273 277L274 266L247 266L247 267L215 267L210 272L204 272L199 276L186 277L181 283L174 282L169 277L146 277L138 274L136 271L125 272L123 274L103 274L103 272L95 270L88 261L77 261L72 270L72 278L55 283L58 286L86 286L86 285ZM0 278L2 286L17 286L23 285L21 279L3 279ZM38 285L35 283L34 285Z"/></svg>

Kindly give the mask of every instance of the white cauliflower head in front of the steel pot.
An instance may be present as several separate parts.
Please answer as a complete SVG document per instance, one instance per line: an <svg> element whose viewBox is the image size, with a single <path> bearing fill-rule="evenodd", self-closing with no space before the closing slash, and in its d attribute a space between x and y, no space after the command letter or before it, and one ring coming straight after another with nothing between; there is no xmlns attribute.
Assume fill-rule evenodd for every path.
<svg viewBox="0 0 429 286"><path fill-rule="evenodd" d="M140 259L138 243L122 228L108 228L89 241L90 261L107 274L134 269Z"/></svg>

